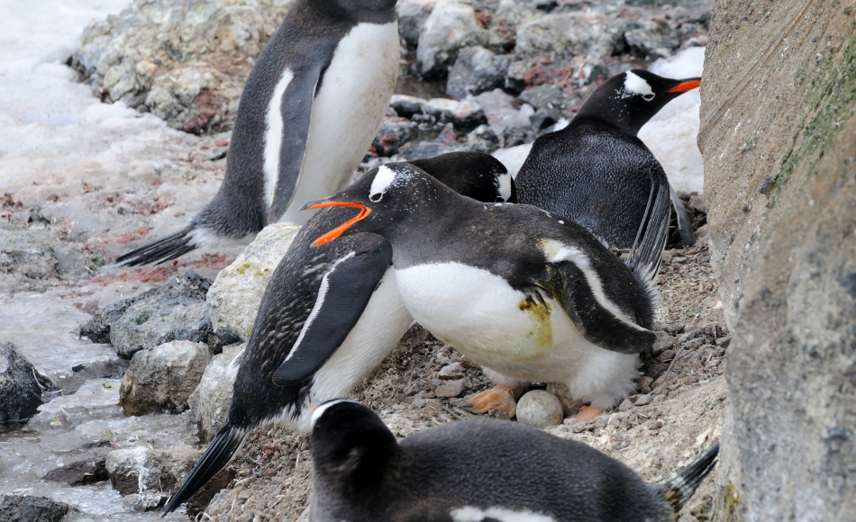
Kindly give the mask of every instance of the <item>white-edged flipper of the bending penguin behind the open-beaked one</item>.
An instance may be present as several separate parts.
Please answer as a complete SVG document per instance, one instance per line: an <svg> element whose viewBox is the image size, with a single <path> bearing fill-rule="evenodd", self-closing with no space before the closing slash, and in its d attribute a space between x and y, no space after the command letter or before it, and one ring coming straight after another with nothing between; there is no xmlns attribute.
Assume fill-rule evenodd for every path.
<svg viewBox="0 0 856 522"><path fill-rule="evenodd" d="M370 250L351 250L332 263L291 352L273 374L275 384L303 382L332 356L360 320L391 263L387 241Z"/></svg>

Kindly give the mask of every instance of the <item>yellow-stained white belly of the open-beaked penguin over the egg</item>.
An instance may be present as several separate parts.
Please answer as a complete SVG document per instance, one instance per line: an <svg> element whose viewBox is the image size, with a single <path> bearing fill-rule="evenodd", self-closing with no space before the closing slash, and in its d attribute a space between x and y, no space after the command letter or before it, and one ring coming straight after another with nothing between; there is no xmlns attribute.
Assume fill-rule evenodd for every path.
<svg viewBox="0 0 856 522"><path fill-rule="evenodd" d="M606 392L613 401L633 389L638 356L590 343L551 297L532 302L459 263L396 270L396 280L414 320L479 365L518 381L566 383L578 398Z"/></svg>

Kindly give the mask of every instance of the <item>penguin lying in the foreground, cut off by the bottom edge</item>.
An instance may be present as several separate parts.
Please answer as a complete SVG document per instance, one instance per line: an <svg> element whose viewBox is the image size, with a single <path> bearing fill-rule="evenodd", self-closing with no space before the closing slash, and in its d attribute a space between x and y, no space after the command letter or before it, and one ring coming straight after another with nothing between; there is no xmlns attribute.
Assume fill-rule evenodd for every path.
<svg viewBox="0 0 856 522"><path fill-rule="evenodd" d="M716 464L719 445L663 484L581 442L468 419L396 443L356 401L312 416L311 522L666 522Z"/></svg>

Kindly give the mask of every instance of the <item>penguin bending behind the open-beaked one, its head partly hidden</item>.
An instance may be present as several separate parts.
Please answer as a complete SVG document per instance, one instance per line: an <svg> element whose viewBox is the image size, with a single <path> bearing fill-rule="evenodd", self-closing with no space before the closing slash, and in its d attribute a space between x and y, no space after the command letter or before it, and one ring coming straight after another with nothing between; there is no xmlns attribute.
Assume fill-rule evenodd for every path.
<svg viewBox="0 0 856 522"><path fill-rule="evenodd" d="M485 202L514 200L511 176L494 157L452 152L414 161L452 189ZM347 220L349 209L318 212L297 234L262 297L236 366L232 406L187 480L169 500L178 508L229 463L250 432L279 422L308 431L310 402L347 395L380 365L413 323L375 234L315 248L314 238ZM300 374L290 380L288 374Z"/></svg>

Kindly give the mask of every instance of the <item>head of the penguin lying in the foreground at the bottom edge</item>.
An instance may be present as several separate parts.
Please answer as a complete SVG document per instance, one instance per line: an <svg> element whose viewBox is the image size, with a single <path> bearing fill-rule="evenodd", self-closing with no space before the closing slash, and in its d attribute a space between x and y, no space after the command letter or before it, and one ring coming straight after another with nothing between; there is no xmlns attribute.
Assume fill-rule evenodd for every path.
<svg viewBox="0 0 856 522"><path fill-rule="evenodd" d="M326 485L345 491L369 489L377 485L398 451L389 428L357 401L324 402L314 410L310 423L313 474Z"/></svg>

